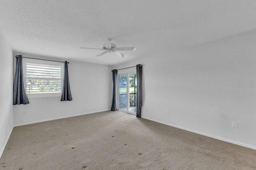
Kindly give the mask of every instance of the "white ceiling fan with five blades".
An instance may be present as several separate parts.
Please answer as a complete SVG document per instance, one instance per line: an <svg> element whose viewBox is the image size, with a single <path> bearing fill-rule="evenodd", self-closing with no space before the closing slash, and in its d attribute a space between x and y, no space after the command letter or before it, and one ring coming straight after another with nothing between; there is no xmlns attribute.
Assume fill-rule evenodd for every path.
<svg viewBox="0 0 256 170"><path fill-rule="evenodd" d="M80 47L80 49L97 49L97 50L105 50L103 53L100 53L99 55L96 55L96 57L102 56L106 53L113 52L116 55L119 55L120 57L126 57L123 53L120 53L119 51L136 51L136 47L118 47L116 48L116 45L111 43L111 40L103 39L103 48L97 49L97 48L86 48L86 47ZM117 53L116 53L117 52Z"/></svg>

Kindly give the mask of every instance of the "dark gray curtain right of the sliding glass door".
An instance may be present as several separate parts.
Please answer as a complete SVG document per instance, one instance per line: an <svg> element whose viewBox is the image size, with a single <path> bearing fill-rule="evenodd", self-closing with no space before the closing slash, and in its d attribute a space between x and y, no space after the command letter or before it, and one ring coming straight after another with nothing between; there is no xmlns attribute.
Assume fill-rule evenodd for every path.
<svg viewBox="0 0 256 170"><path fill-rule="evenodd" d="M136 117L141 117L141 107L142 107L142 65L136 65L137 74L137 110Z"/></svg>

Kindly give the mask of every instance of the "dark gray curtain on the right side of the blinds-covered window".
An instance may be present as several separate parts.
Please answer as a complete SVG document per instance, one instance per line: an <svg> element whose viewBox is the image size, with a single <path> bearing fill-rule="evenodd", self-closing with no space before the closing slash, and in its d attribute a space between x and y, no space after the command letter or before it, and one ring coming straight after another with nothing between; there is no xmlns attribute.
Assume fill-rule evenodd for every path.
<svg viewBox="0 0 256 170"><path fill-rule="evenodd" d="M65 61L64 78L63 78L63 86L62 86L60 101L71 101L71 100L72 100L72 95L71 95L69 78L68 78L68 62Z"/></svg>

